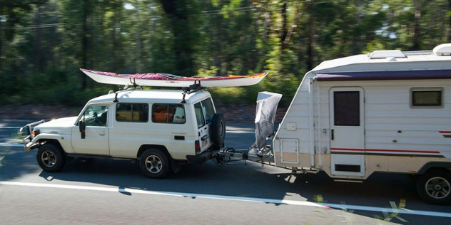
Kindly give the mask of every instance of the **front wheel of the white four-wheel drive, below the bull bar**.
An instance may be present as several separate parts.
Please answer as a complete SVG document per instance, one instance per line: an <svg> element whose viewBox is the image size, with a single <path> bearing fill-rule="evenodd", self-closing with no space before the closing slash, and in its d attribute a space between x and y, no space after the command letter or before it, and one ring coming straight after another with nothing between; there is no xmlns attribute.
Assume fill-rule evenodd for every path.
<svg viewBox="0 0 451 225"><path fill-rule="evenodd" d="M59 172L66 164L66 155L57 145L46 143L39 147L38 154L39 167L46 172Z"/></svg>

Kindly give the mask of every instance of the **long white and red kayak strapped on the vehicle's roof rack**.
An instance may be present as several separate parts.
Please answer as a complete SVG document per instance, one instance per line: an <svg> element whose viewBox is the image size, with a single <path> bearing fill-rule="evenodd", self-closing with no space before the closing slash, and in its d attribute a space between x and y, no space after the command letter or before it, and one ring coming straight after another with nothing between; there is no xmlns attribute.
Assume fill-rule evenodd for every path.
<svg viewBox="0 0 451 225"><path fill-rule="evenodd" d="M80 68L90 78L98 83L113 85L138 85L149 87L188 87L195 83L202 87L238 87L249 86L259 83L268 73L257 73L253 75L228 75L213 76L208 78L201 77L182 77L168 73L136 73L136 74L117 74L111 72L102 72L96 70L87 70Z"/></svg>

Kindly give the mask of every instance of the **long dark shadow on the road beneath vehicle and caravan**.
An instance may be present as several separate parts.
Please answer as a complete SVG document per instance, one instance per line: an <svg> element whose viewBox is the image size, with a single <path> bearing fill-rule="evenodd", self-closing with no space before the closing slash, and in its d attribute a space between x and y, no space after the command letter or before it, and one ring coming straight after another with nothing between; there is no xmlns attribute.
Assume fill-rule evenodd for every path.
<svg viewBox="0 0 451 225"><path fill-rule="evenodd" d="M67 162L59 173L42 171L36 162L36 151L30 153L19 149L9 152L5 166L0 168L1 180L18 180L21 177L36 179L33 182L89 186L107 185L118 189L129 188L154 192L183 192L211 194L230 197L258 199L284 199L315 202L321 195L330 204L358 206L390 206L406 199L407 209L450 212L451 206L433 206L420 201L415 192L414 181L399 174L373 174L363 183L333 182L327 174L293 174L288 169L248 162L243 165L218 167L213 162L190 164L177 174L165 179L147 179L138 164L118 159L74 159ZM36 174L36 175L34 175ZM39 175L38 175L39 174ZM39 178L39 177L41 178ZM132 195L132 193L121 192ZM382 211L354 211L354 214L373 218L383 216ZM428 216L401 216L407 221L425 221ZM394 222L400 222L394 220ZM401 222L400 222L401 223ZM401 223L404 224L404 223ZM410 223L412 224L412 223Z"/></svg>

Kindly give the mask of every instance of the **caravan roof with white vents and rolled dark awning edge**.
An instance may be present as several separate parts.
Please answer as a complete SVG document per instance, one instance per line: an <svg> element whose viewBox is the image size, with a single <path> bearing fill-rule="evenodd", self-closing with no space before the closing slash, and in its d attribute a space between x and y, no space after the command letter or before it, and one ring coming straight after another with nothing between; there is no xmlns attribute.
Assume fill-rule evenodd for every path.
<svg viewBox="0 0 451 225"><path fill-rule="evenodd" d="M451 78L451 43L433 51L375 51L324 61L309 73L325 80L404 80Z"/></svg>

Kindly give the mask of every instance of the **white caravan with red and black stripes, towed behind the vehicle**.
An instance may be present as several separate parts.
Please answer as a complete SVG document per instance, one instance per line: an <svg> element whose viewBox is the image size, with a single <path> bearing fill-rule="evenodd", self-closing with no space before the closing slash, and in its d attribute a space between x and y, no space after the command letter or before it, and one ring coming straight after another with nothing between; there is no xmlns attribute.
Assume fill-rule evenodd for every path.
<svg viewBox="0 0 451 225"><path fill-rule="evenodd" d="M451 202L451 43L375 51L305 74L273 138L280 167L335 180L415 175L420 197Z"/></svg>

